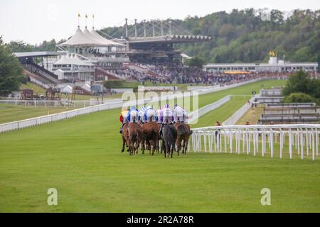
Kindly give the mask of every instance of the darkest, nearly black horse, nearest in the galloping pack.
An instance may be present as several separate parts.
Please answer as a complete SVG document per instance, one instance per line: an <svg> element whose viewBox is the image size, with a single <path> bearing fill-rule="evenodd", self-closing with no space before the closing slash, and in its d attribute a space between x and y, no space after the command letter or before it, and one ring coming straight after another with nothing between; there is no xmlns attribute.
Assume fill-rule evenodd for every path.
<svg viewBox="0 0 320 227"><path fill-rule="evenodd" d="M165 124L162 128L162 138L164 141L164 157L169 157L171 153L174 154L174 149L176 145L177 131L174 125Z"/></svg>

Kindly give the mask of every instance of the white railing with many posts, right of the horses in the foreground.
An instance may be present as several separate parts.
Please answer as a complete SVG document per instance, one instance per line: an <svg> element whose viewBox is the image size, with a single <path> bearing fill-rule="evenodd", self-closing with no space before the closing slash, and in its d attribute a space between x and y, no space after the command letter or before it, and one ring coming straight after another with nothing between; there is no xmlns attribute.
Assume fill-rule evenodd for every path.
<svg viewBox="0 0 320 227"><path fill-rule="evenodd" d="M261 153L262 157L279 153L280 158L287 154L290 159L297 153L302 159L311 156L314 160L319 155L319 134L319 124L194 128L188 149L205 153Z"/></svg>

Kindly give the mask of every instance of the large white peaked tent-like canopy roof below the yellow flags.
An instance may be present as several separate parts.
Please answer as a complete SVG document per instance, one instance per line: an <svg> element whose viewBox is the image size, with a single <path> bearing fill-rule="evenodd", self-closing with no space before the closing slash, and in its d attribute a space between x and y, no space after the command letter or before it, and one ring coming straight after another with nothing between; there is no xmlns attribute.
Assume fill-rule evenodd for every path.
<svg viewBox="0 0 320 227"><path fill-rule="evenodd" d="M75 34L71 36L65 43L58 45L60 47L70 47L70 46L88 46L88 47L103 47L103 46L122 46L120 43L116 43L112 40L107 40L99 35L94 29L88 31L87 27L81 31L80 26L75 31Z"/></svg>

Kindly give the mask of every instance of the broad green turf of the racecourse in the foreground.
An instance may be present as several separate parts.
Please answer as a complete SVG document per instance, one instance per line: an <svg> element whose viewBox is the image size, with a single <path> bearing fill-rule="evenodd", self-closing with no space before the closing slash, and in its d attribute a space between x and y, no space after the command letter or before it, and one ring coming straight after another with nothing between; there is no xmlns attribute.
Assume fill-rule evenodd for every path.
<svg viewBox="0 0 320 227"><path fill-rule="evenodd" d="M320 211L319 160L129 157L120 153L118 117L114 109L1 134L0 211ZM265 187L272 206L260 204ZM58 206L47 205L49 188L58 189Z"/></svg>

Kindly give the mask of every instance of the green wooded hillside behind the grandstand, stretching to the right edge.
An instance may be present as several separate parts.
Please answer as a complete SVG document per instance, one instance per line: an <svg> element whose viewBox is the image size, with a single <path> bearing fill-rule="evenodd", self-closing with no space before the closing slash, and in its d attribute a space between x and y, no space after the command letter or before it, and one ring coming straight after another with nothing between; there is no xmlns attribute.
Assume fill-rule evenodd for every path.
<svg viewBox="0 0 320 227"><path fill-rule="evenodd" d="M279 10L270 11L270 20L255 9L233 9L207 16L188 16L172 20L193 35L209 35L205 43L186 43L176 48L206 62L267 62L268 52L291 62L320 63L320 9L294 10L287 16ZM142 24L138 24L142 27ZM124 35L123 27L108 27L107 34ZM173 31L174 33L174 31Z"/></svg>

